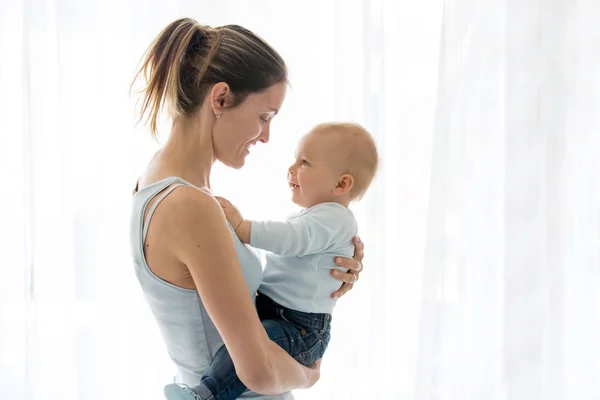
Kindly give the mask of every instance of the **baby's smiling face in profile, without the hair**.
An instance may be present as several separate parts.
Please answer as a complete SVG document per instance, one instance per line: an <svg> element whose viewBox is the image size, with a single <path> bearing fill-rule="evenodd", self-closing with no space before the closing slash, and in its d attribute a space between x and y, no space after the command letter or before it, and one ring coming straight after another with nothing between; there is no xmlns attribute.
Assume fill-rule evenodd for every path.
<svg viewBox="0 0 600 400"><path fill-rule="evenodd" d="M296 161L288 170L294 203L308 208L335 199L332 192L341 172L334 151L330 136L310 132L300 140Z"/></svg>

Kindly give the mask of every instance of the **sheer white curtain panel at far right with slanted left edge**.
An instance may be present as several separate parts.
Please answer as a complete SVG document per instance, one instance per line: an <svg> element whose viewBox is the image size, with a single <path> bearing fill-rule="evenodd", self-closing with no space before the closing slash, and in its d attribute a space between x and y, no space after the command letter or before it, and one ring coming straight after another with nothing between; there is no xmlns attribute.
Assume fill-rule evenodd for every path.
<svg viewBox="0 0 600 400"><path fill-rule="evenodd" d="M416 398L600 397L596 1L447 1Z"/></svg>

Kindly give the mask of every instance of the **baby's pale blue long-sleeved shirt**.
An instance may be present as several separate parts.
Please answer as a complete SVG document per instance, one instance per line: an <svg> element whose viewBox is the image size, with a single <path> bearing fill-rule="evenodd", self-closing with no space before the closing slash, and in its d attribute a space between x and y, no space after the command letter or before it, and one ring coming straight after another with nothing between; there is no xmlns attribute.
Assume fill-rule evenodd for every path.
<svg viewBox="0 0 600 400"><path fill-rule="evenodd" d="M331 294L345 272L334 257L352 257L358 226L354 214L337 203L322 203L292 214L285 222L251 221L250 245L269 251L259 291L293 310L331 313Z"/></svg>

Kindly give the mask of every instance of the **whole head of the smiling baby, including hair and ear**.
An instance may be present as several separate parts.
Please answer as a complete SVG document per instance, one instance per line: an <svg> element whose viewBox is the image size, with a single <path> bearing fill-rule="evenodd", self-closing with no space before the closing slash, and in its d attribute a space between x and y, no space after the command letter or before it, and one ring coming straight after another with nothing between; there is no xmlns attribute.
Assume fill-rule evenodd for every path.
<svg viewBox="0 0 600 400"><path fill-rule="evenodd" d="M378 166L375 141L362 126L317 125L300 140L288 170L292 201L306 208L326 202L348 206L362 198Z"/></svg>

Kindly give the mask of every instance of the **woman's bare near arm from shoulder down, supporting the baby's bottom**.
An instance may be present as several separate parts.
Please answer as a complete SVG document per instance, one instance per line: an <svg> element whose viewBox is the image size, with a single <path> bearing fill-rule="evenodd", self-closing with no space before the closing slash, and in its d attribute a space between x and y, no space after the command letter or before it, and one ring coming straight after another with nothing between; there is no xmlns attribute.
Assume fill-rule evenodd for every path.
<svg viewBox="0 0 600 400"><path fill-rule="evenodd" d="M269 340L258 319L219 203L190 187L177 188L163 203L168 248L188 267L241 381L262 394L312 386L319 370L304 367Z"/></svg>

